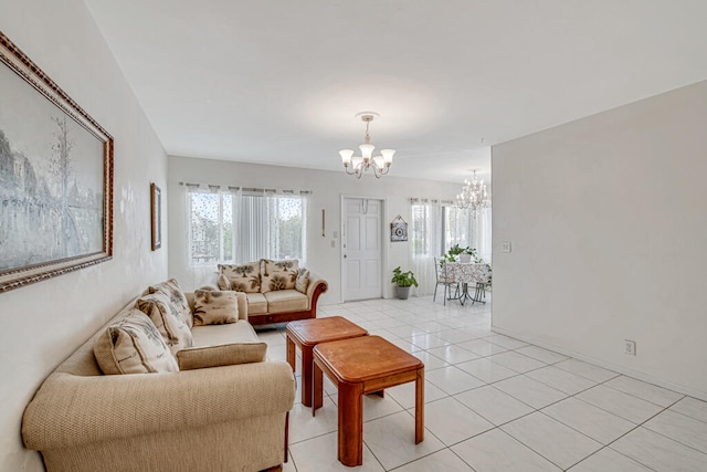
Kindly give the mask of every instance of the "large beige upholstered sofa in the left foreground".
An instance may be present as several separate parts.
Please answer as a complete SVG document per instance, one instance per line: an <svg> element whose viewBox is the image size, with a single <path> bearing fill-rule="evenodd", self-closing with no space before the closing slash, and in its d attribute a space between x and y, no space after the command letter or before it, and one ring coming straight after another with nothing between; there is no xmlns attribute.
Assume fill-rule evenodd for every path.
<svg viewBox="0 0 707 472"><path fill-rule="evenodd" d="M186 295L193 313L193 295ZM108 325L126 317L134 304L46 378L24 411L25 447L42 453L49 471L281 470L295 397L289 365L265 360L103 375L94 342ZM258 339L242 294L238 306L235 323L193 326L194 347L187 350L203 361L200 346L240 342L255 346Z"/></svg>

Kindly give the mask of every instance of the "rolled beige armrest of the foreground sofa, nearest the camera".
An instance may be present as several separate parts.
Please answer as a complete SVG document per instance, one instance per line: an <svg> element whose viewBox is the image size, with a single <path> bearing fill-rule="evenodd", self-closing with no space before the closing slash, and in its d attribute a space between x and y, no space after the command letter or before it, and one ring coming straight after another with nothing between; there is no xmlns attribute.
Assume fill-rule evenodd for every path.
<svg viewBox="0 0 707 472"><path fill-rule="evenodd" d="M42 451L289 411L284 361L168 374L53 373L24 410L22 438Z"/></svg>

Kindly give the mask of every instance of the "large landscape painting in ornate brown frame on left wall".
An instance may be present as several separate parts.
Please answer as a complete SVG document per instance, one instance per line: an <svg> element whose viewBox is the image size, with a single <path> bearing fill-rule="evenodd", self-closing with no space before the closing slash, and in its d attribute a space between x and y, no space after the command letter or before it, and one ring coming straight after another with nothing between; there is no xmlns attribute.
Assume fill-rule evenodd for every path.
<svg viewBox="0 0 707 472"><path fill-rule="evenodd" d="M113 256L113 137L0 32L0 292Z"/></svg>

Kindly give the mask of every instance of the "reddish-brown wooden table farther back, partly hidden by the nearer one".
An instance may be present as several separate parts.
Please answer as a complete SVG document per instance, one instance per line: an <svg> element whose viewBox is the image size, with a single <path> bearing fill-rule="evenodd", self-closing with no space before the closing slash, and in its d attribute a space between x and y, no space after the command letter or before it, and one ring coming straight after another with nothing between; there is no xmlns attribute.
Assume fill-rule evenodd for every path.
<svg viewBox="0 0 707 472"><path fill-rule="evenodd" d="M341 316L302 319L287 324L287 361L295 371L295 345L302 350L302 405L312 407L312 349L330 340L368 335L362 327Z"/></svg>

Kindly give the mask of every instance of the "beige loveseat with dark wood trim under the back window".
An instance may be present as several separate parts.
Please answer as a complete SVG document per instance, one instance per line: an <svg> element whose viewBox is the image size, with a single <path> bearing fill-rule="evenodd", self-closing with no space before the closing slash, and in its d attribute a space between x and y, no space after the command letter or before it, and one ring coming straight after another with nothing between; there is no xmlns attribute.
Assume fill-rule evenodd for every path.
<svg viewBox="0 0 707 472"><path fill-rule="evenodd" d="M298 266L297 260L219 264L221 290L245 293L252 325L286 323L317 317L317 301L329 285L319 275Z"/></svg>

